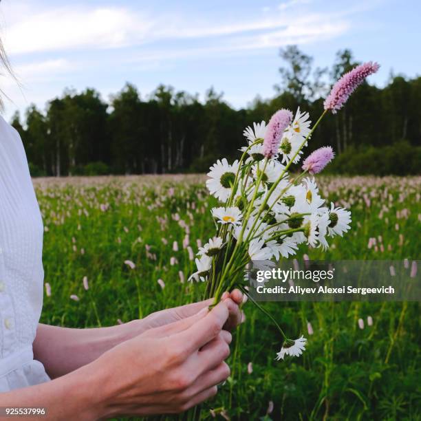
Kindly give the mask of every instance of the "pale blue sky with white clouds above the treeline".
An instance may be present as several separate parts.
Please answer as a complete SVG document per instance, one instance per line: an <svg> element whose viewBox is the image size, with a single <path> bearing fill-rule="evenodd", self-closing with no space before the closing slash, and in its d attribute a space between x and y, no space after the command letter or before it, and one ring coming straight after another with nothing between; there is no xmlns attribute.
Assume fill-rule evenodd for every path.
<svg viewBox="0 0 421 421"><path fill-rule="evenodd" d="M314 66L338 50L391 71L421 74L421 2L415 0L2 0L0 36L21 86L0 77L5 115L21 113L66 87L102 98L126 81L141 97L158 84L199 94L213 86L235 108L274 96L279 48L296 44Z"/></svg>

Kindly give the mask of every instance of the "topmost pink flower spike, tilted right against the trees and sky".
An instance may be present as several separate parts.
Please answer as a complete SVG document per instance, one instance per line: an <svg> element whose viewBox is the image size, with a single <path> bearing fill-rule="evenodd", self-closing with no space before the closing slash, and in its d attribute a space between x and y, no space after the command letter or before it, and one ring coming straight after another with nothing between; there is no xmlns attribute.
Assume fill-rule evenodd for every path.
<svg viewBox="0 0 421 421"><path fill-rule="evenodd" d="M378 63L369 61L355 67L351 72L345 73L334 84L332 91L325 99L325 110L330 109L332 114L336 114L336 111L343 107L352 92L364 82L365 78L370 74L376 73L379 68L380 65Z"/></svg>

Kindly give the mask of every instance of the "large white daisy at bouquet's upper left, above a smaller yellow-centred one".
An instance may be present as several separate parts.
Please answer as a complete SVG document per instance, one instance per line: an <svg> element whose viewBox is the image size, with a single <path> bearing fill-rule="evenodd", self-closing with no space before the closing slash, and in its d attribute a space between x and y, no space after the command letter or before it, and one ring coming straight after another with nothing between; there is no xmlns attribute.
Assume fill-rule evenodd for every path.
<svg viewBox="0 0 421 421"><path fill-rule="evenodd" d="M206 180L206 187L210 194L221 200L221 202L226 202L231 195L238 168L238 161L230 165L226 158L217 160L216 164L210 167L210 172L208 173L210 178Z"/></svg>

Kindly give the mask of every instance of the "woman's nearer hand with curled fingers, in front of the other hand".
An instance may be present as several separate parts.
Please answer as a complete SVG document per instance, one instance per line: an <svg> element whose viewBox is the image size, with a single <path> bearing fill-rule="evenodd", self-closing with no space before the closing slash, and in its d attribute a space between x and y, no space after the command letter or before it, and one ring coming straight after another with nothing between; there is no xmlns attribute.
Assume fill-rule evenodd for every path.
<svg viewBox="0 0 421 421"><path fill-rule="evenodd" d="M230 301L151 328L91 363L105 392L99 415L178 413L214 396L230 374Z"/></svg>

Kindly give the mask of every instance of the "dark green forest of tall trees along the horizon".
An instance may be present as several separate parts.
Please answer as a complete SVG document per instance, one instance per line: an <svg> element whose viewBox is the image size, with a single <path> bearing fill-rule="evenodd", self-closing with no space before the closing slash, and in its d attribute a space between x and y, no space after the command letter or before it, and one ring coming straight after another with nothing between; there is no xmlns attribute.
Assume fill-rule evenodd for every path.
<svg viewBox="0 0 421 421"><path fill-rule="evenodd" d="M93 88L65 89L45 110L31 105L12 117L32 176L204 172L218 158L237 156L243 131L279 108L309 111L313 122L335 80L359 64L351 50L336 54L332 67L295 45L280 50L279 80L272 98L255 98L234 109L210 87L197 94L159 85L149 95L126 83L109 101ZM276 82L276 81L275 81ZM332 173L420 173L421 76L390 74L385 87L365 83L336 116L327 116L310 151L331 145Z"/></svg>

